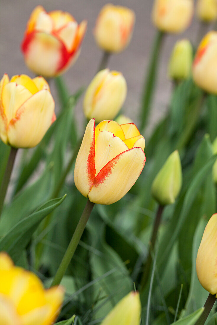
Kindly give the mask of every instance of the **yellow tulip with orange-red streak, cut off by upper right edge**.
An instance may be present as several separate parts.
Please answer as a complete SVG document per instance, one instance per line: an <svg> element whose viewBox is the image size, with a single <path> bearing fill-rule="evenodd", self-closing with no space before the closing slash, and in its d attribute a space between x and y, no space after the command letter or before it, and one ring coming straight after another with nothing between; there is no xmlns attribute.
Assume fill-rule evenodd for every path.
<svg viewBox="0 0 217 325"><path fill-rule="evenodd" d="M217 94L217 32L208 32L202 39L193 62L195 84L208 93Z"/></svg>

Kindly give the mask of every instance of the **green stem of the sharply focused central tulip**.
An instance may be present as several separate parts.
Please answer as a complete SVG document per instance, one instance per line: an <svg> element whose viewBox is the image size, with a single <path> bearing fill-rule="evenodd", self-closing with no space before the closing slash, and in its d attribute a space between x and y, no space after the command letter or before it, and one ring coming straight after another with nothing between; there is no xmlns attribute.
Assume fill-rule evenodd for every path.
<svg viewBox="0 0 217 325"><path fill-rule="evenodd" d="M79 244L80 238L81 238L83 231L86 227L86 224L87 224L90 214L93 210L93 207L94 207L94 203L91 202L89 199L87 199L87 204L84 208L83 213L81 214L79 223L75 229L72 239L68 245L68 248L65 251L64 257L63 257L63 259L60 263L60 266L55 274L55 277L53 279L51 286L60 284L60 282L65 274L65 271L67 270L67 267L68 267L73 255L75 253L75 250Z"/></svg>

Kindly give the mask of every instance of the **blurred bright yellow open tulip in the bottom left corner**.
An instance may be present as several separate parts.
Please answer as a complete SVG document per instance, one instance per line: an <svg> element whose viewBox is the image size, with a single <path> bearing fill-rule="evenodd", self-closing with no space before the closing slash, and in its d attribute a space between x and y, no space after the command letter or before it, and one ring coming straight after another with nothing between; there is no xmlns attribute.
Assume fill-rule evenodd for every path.
<svg viewBox="0 0 217 325"><path fill-rule="evenodd" d="M62 287L45 290L32 272L13 265L6 253L0 253L0 324L51 325L64 298Z"/></svg>

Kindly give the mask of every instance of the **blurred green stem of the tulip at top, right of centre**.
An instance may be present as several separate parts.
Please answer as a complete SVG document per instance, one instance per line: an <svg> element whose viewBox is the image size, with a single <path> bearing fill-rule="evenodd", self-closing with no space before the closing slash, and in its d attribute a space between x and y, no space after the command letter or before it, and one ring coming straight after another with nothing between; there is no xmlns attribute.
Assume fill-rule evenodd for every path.
<svg viewBox="0 0 217 325"><path fill-rule="evenodd" d="M160 49L163 41L164 33L161 31L157 31L152 53L150 56L150 62L148 65L148 74L144 85L143 97L142 97L142 104L141 104L141 116L140 116L140 129L143 130L146 126L147 119L149 117L149 112L151 108L151 102L154 92L154 86L156 82L157 76L157 67L158 61L160 57Z"/></svg>

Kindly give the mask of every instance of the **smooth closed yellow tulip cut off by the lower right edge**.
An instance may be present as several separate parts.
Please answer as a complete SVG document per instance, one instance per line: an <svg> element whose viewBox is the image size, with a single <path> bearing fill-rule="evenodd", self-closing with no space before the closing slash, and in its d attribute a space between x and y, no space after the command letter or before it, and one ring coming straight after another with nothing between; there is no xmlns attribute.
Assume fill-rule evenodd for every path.
<svg viewBox="0 0 217 325"><path fill-rule="evenodd" d="M217 214L210 218L200 243L196 271L200 284L211 294L217 293Z"/></svg>

